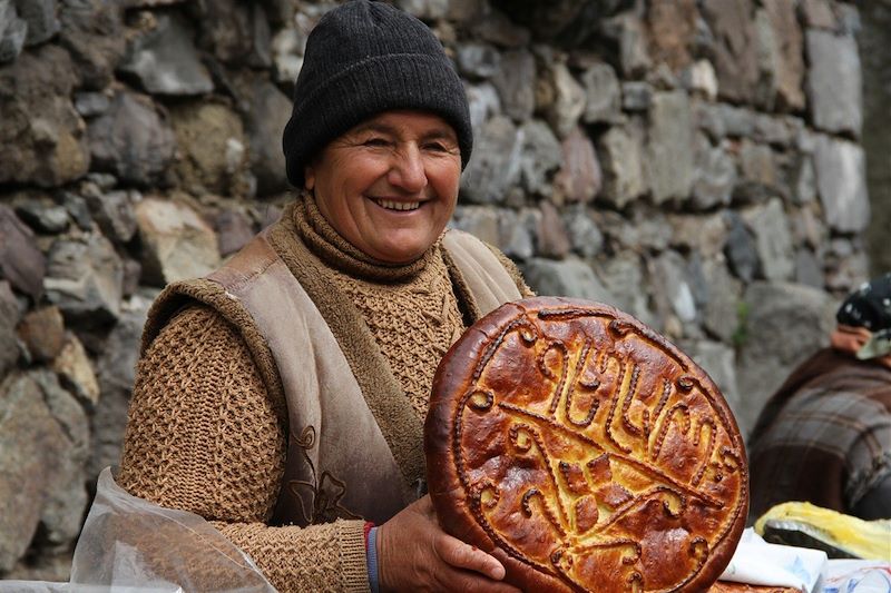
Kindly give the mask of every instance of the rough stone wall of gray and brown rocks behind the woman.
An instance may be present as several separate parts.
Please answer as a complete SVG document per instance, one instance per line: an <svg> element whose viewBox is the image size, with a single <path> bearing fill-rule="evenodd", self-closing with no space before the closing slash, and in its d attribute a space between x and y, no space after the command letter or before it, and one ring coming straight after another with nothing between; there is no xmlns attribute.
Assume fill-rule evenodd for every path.
<svg viewBox="0 0 891 593"><path fill-rule="evenodd" d="M748 429L868 275L854 4L400 0L466 81L454 225L665 333ZM290 199L327 2L0 0L0 576L66 579L146 309Z"/></svg>

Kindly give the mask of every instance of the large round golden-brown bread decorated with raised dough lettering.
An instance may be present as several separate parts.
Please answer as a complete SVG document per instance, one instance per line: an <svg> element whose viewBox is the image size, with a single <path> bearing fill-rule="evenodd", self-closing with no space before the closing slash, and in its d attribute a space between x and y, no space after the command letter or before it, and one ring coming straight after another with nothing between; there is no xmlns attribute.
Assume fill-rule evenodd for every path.
<svg viewBox="0 0 891 593"><path fill-rule="evenodd" d="M528 298L470 327L433 379L424 451L443 528L525 591L704 591L745 524L717 387L598 303Z"/></svg>

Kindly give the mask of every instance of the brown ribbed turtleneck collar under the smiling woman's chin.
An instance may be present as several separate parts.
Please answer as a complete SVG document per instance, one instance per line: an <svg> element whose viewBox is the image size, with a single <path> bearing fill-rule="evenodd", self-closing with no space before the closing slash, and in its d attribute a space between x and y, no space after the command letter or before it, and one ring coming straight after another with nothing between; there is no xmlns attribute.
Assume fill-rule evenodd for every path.
<svg viewBox="0 0 891 593"><path fill-rule="evenodd" d="M311 191L303 191L294 206L294 224L306 246L325 264L350 276L380 283L408 281L417 277L435 257L438 239L424 254L409 264L389 264L356 249L325 220Z"/></svg>

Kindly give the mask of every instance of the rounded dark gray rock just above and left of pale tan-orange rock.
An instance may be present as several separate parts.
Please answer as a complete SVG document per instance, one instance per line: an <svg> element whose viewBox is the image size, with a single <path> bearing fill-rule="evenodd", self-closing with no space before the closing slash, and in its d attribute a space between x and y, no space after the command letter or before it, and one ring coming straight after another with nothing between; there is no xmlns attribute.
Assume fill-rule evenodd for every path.
<svg viewBox="0 0 891 593"><path fill-rule="evenodd" d="M107 112L89 123L89 144L96 168L137 186L166 181L176 142L148 97L118 92Z"/></svg>

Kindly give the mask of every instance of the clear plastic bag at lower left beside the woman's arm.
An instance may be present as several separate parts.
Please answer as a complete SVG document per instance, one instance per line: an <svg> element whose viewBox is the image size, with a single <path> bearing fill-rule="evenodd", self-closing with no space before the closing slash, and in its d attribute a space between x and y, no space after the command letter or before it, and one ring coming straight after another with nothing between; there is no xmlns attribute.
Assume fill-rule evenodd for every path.
<svg viewBox="0 0 891 593"><path fill-rule="evenodd" d="M253 561L203 517L129 495L106 467L68 583L0 581L0 593L274 593Z"/></svg>

